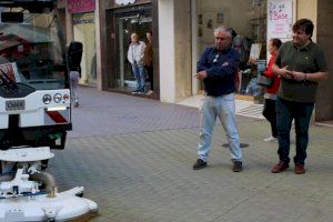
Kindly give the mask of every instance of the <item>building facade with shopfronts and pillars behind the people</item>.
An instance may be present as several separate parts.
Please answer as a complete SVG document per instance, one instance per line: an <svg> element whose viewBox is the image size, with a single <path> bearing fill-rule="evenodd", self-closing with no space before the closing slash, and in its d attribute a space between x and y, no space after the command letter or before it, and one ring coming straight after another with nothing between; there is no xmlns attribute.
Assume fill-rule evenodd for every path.
<svg viewBox="0 0 333 222"><path fill-rule="evenodd" d="M71 12L70 0L60 1L64 1L59 7L64 8L68 42L82 29L77 27L82 21L80 18L85 16L89 21L93 18L94 30L85 30L90 29L90 34L95 37L88 40L94 41L95 46L94 82L99 90L129 93L134 87L127 61L130 33L135 31L144 40L145 32L152 31L155 93L151 98L171 103L202 93L202 82L193 75L200 53L214 44L215 27L232 27L245 40L244 58L266 60L268 40L273 37L290 40L293 22L309 18L315 24L313 40L325 49L331 72L329 80L320 83L315 121L333 120L330 62L333 52L329 50L332 49L333 31L327 23L333 19L333 3L329 0L95 0L93 16L75 16L91 11ZM92 46L92 42L88 44ZM251 84L251 80L256 72L252 67L250 70L252 72L242 78L240 94L253 97L255 89L251 85L255 84Z"/></svg>

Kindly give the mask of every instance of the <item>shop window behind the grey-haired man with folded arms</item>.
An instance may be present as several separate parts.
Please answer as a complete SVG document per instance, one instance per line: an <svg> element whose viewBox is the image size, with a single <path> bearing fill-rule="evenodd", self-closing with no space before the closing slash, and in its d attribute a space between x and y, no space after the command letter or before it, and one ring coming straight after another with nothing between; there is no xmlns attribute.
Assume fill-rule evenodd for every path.
<svg viewBox="0 0 333 222"><path fill-rule="evenodd" d="M253 51L260 46L255 59L261 61L266 59L266 0L196 0L198 58L206 47L214 46L214 28L232 27L238 33L233 47L241 54L240 93L242 94L263 94L263 89L256 84L256 64L254 61L249 62L249 58L251 49Z"/></svg>

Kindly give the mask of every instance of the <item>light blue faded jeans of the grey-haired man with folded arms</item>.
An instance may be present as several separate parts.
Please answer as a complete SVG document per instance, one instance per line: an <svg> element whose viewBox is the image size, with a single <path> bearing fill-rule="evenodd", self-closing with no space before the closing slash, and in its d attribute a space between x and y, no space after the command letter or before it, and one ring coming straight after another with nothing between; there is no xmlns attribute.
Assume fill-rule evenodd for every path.
<svg viewBox="0 0 333 222"><path fill-rule="evenodd" d="M200 112L200 140L198 144L199 159L205 162L208 161L212 143L212 133L216 117L219 117L226 133L231 158L233 160L241 161L242 150L240 148L240 138L235 122L234 93L221 97L204 97Z"/></svg>

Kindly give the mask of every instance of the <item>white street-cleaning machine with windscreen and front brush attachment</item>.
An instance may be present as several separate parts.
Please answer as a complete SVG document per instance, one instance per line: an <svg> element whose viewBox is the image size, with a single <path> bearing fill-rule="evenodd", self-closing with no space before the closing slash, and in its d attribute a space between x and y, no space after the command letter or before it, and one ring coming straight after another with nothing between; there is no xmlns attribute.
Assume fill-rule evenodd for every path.
<svg viewBox="0 0 333 222"><path fill-rule="evenodd" d="M0 0L0 222L71 221L98 211L48 169L71 130L68 56L54 0Z"/></svg>

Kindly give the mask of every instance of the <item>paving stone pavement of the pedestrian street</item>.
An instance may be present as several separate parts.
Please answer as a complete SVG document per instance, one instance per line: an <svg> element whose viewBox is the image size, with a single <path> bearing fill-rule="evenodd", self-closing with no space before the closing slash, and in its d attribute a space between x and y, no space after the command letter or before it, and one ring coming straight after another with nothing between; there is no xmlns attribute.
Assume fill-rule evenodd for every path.
<svg viewBox="0 0 333 222"><path fill-rule="evenodd" d="M333 129L312 125L306 173L270 173L276 143L264 120L238 117L244 171L233 173L216 125L209 167L193 171L194 108L80 89L74 130L50 171L59 190L85 188L99 204L92 222L332 222ZM294 154L292 139L291 153Z"/></svg>

